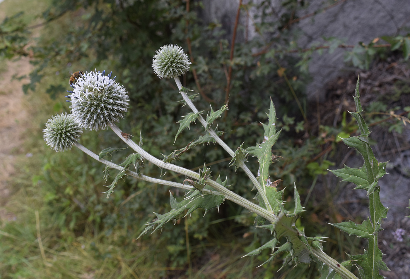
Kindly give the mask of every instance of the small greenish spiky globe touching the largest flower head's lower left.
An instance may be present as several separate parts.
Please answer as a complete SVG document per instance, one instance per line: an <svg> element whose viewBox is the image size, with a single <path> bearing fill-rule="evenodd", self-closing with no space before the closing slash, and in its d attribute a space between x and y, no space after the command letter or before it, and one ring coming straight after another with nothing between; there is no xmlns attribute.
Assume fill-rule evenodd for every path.
<svg viewBox="0 0 410 279"><path fill-rule="evenodd" d="M78 142L82 127L71 114L60 113L48 120L43 132L48 146L55 151L64 151Z"/></svg>

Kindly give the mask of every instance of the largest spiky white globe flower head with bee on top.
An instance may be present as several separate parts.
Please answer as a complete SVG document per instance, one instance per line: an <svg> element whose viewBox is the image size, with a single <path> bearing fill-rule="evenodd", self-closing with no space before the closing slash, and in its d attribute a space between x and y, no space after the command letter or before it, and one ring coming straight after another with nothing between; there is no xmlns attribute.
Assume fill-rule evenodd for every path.
<svg viewBox="0 0 410 279"><path fill-rule="evenodd" d="M128 94L124 86L96 71L85 73L72 85L66 97L71 98L71 114L90 130L106 129L109 124L119 122L128 109ZM68 101L70 102L70 101Z"/></svg>

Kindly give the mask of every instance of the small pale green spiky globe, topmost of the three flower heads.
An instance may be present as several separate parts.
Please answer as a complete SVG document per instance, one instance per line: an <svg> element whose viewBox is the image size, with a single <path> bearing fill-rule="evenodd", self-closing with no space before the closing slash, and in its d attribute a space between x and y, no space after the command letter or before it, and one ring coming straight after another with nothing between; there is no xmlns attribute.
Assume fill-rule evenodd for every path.
<svg viewBox="0 0 410 279"><path fill-rule="evenodd" d="M179 77L189 70L188 55L178 45L164 45L154 55L154 73L159 78Z"/></svg>

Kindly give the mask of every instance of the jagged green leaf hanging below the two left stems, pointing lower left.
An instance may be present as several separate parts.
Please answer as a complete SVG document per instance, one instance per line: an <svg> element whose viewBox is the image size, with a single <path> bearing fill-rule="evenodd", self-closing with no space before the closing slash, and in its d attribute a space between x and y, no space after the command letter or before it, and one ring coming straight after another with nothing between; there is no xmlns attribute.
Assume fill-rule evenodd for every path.
<svg viewBox="0 0 410 279"><path fill-rule="evenodd" d="M157 231L161 229L167 222L177 219L180 214L187 210L186 215L191 214L194 210L202 208L205 210L205 214L213 208L219 208L221 203L225 200L223 195L203 195L200 191L190 191L189 196L185 197L181 202L177 202L175 197L171 194L169 202L171 204L171 211L165 214L155 213L157 218L153 222L149 222L148 226L138 236L140 238L148 231Z"/></svg>

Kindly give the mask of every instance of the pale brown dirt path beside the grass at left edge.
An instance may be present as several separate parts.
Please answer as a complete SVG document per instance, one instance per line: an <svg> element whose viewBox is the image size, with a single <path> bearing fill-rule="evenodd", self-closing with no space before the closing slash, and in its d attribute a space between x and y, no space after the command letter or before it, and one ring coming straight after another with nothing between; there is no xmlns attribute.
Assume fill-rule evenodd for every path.
<svg viewBox="0 0 410 279"><path fill-rule="evenodd" d="M7 180L16 172L16 156L22 154L23 132L30 127L29 104L21 88L27 79L11 80L13 75L28 75L32 69L28 58L5 61L7 70L0 73L0 206L7 203L11 189ZM27 156L30 156L27 154ZM14 215L0 209L1 219Z"/></svg>

